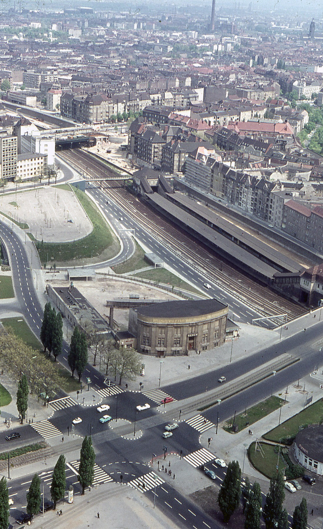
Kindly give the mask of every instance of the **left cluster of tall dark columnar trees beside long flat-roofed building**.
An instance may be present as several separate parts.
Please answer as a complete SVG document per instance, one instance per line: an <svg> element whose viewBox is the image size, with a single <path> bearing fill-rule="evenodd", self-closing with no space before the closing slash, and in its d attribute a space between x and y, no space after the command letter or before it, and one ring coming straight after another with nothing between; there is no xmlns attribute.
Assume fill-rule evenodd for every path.
<svg viewBox="0 0 323 529"><path fill-rule="evenodd" d="M63 320L60 312L56 312L47 302L44 308L43 322L40 330L40 340L44 346L44 352L48 350L49 356L54 355L55 361L62 352L63 344Z"/></svg>

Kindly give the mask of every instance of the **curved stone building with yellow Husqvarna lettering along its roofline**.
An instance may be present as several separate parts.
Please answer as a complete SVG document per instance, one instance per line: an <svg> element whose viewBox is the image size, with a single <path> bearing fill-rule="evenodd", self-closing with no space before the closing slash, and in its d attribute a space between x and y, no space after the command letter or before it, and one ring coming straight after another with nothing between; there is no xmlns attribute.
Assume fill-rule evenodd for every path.
<svg viewBox="0 0 323 529"><path fill-rule="evenodd" d="M225 342L228 306L216 299L178 300L131 308L137 350L157 357L187 355Z"/></svg>

